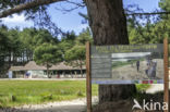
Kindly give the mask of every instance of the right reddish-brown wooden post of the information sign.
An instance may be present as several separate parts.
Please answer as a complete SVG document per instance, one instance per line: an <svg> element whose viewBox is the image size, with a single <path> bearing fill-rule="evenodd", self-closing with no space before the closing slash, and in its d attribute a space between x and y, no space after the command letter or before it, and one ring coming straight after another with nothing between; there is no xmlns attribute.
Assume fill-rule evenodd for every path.
<svg viewBox="0 0 170 112"><path fill-rule="evenodd" d="M163 62L165 62L165 102L168 103L168 110L165 110L165 112L169 112L169 61L168 61L168 39L165 38L163 40Z"/></svg>

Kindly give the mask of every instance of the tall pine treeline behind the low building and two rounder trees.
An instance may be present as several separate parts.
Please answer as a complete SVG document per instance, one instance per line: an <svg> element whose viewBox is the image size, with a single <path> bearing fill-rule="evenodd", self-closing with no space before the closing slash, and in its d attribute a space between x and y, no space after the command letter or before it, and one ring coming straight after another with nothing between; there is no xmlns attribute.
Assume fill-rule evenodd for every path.
<svg viewBox="0 0 170 112"><path fill-rule="evenodd" d="M53 37L48 30L41 28L38 29L31 27L24 28L23 30L19 30L19 28L9 29L7 26L1 26L0 71L2 70L7 71L11 65L24 65L28 61L33 61L35 50L40 49L47 45L50 45L50 47L51 46L57 47L59 51L62 53L61 57L62 60L66 60L64 59L64 55L68 51L74 48L74 46L80 46L81 47L80 49L82 49L82 46L85 46L85 42L88 40L92 41L89 29L84 29L80 35L75 35L74 32L68 32L66 35L61 37L61 39L59 40L57 37ZM44 58L49 58L53 60L52 54L51 55L45 54ZM78 55L76 60L78 60ZM71 64L71 60L68 61L68 64L69 63L70 65L75 66L75 64ZM82 61L82 63L84 63L84 60Z"/></svg>

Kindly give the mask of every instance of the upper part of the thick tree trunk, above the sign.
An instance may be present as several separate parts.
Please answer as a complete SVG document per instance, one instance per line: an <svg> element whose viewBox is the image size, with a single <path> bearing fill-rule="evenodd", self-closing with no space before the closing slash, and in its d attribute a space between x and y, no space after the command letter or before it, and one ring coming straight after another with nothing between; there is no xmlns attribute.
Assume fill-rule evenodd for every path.
<svg viewBox="0 0 170 112"><path fill-rule="evenodd" d="M86 0L95 45L127 45L122 0Z"/></svg>

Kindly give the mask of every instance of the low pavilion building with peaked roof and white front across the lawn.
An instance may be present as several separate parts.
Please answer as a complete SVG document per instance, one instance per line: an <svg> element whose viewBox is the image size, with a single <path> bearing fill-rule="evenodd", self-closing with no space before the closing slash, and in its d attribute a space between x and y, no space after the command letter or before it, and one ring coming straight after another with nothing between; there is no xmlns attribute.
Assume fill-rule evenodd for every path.
<svg viewBox="0 0 170 112"><path fill-rule="evenodd" d="M24 66L11 66L9 71L13 74L12 78L25 78L26 73L29 73L28 78L48 78L47 69L42 65L37 65L34 61L29 61ZM82 76L78 67L73 67L61 62L52 65L49 69L49 74L51 78L85 77L85 66L83 66Z"/></svg>

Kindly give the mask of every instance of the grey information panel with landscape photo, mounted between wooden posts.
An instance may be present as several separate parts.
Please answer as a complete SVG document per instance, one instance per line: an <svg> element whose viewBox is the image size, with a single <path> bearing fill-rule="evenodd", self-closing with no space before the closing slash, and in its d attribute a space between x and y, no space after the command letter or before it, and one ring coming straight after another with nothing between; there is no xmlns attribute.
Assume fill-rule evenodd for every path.
<svg viewBox="0 0 170 112"><path fill-rule="evenodd" d="M163 45L90 46L95 84L162 84Z"/></svg>

